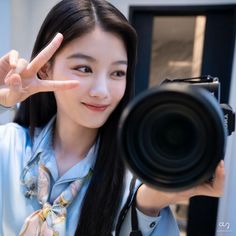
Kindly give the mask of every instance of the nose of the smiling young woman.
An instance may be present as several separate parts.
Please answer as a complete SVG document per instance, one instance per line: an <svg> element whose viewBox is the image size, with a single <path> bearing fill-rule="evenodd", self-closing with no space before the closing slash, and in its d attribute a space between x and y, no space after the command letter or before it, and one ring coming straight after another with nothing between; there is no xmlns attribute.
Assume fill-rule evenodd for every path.
<svg viewBox="0 0 236 236"><path fill-rule="evenodd" d="M108 81L106 76L94 78L91 89L89 91L91 97L107 98L109 96Z"/></svg>

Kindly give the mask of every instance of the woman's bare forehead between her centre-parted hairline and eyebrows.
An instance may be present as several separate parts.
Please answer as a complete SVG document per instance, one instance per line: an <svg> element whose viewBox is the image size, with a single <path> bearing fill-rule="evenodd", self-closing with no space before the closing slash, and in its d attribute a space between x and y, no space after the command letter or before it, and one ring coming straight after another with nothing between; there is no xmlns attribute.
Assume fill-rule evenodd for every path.
<svg viewBox="0 0 236 236"><path fill-rule="evenodd" d="M60 54L84 53L93 57L114 57L115 59L127 59L127 52L123 40L118 34L106 32L100 27L95 27L69 42Z"/></svg>

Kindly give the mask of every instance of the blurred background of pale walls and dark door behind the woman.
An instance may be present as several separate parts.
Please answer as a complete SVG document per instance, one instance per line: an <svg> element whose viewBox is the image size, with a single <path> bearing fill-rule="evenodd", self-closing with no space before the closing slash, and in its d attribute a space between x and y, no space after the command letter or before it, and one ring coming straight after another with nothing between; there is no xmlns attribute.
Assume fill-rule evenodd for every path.
<svg viewBox="0 0 236 236"><path fill-rule="evenodd" d="M26 59L43 19L57 0L0 0L0 55ZM139 36L136 94L164 79L219 77L221 102L236 110L236 0L110 0ZM16 108L0 114L12 120ZM210 137L209 137L210 138ZM225 195L172 206L182 235L236 235L236 139L228 138ZM235 153L235 154L234 154ZM218 218L217 218L218 216Z"/></svg>

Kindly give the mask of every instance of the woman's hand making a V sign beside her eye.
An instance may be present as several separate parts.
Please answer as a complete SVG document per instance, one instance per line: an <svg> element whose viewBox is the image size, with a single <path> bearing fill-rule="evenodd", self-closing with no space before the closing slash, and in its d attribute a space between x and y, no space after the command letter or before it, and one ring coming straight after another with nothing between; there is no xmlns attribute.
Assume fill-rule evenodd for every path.
<svg viewBox="0 0 236 236"><path fill-rule="evenodd" d="M78 86L78 81L50 81L37 78L37 72L45 65L63 40L58 33L30 63L12 50L0 58L0 104L15 105L38 92L70 89Z"/></svg>

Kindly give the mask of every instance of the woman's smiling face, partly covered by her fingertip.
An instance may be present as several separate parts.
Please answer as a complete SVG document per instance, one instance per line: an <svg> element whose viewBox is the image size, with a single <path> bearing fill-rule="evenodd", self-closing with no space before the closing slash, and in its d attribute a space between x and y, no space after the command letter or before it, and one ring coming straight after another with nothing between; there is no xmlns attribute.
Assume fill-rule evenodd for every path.
<svg viewBox="0 0 236 236"><path fill-rule="evenodd" d="M57 115L88 128L101 127L122 99L127 52L115 34L96 27L67 44L56 56L49 79L78 80L76 88L57 91Z"/></svg>

